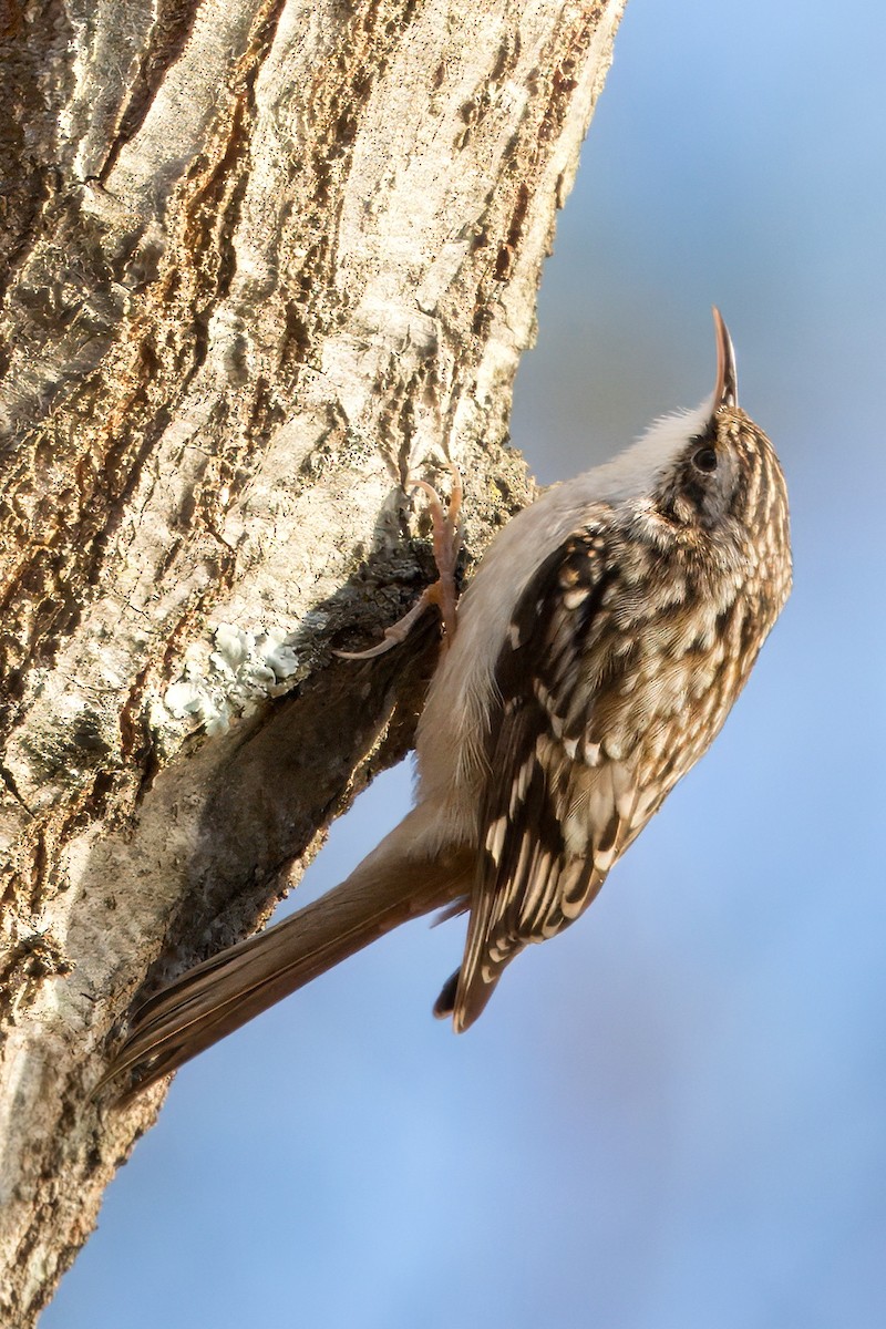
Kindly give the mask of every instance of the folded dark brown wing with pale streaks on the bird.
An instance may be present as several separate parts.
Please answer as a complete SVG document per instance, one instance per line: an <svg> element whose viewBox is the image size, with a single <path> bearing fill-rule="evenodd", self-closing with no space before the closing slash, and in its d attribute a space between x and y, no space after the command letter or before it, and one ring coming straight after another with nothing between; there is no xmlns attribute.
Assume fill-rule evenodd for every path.
<svg viewBox="0 0 886 1329"><path fill-rule="evenodd" d="M600 746L634 658L607 609L616 569L603 526L574 533L527 586L499 655L465 958L437 1007L458 1030L515 954L578 918L636 833L630 754Z"/></svg>

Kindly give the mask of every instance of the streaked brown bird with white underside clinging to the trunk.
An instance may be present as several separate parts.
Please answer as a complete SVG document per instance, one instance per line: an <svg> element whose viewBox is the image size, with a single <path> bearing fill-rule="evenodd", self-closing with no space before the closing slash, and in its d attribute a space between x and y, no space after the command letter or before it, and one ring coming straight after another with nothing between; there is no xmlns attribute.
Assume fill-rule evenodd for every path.
<svg viewBox="0 0 886 1329"><path fill-rule="evenodd" d="M739 405L716 307L713 323L713 393L545 490L481 558L420 716L406 816L320 900L149 997L102 1083L128 1073L141 1092L441 909L468 913L434 1006L461 1033L526 946L587 909L716 738L790 591L784 474Z"/></svg>

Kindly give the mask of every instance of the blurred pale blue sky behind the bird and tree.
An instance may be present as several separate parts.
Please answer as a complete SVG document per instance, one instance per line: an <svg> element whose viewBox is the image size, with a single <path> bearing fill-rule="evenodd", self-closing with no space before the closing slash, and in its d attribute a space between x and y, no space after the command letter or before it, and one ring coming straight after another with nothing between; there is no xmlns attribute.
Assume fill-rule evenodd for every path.
<svg viewBox="0 0 886 1329"><path fill-rule="evenodd" d="M630 0L521 368L563 478L724 311L796 590L711 755L466 1037L420 922L186 1067L41 1329L886 1324L883 51L873 3Z"/></svg>

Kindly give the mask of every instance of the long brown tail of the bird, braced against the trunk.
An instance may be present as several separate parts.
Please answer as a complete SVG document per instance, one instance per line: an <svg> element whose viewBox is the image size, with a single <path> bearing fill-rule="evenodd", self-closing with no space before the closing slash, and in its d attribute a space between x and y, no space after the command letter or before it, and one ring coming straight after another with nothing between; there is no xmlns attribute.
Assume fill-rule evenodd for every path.
<svg viewBox="0 0 886 1329"><path fill-rule="evenodd" d="M139 1092L385 932L466 894L473 855L410 856L409 820L320 900L149 997L102 1084L143 1067L125 1096Z"/></svg>

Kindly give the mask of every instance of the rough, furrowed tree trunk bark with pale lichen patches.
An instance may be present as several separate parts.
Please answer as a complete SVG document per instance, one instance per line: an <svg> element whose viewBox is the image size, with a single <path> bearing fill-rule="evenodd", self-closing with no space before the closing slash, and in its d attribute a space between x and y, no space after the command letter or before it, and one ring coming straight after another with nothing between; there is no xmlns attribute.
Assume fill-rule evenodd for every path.
<svg viewBox="0 0 886 1329"><path fill-rule="evenodd" d="M0 1304L33 1324L162 1091L139 986L252 929L409 746L397 480L476 554L623 0L50 0L3 28Z"/></svg>

